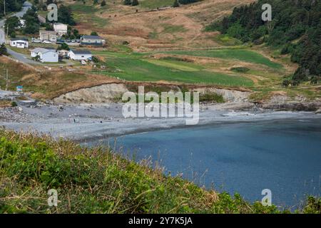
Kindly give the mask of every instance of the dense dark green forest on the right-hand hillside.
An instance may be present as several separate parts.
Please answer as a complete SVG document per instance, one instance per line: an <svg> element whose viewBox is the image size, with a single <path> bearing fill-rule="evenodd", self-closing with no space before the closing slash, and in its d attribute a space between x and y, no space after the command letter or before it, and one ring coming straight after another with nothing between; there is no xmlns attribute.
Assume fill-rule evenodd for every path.
<svg viewBox="0 0 321 228"><path fill-rule="evenodd" d="M262 20L262 5L272 6L272 21ZM302 81L312 83L321 77L321 0L259 0L240 6L222 21L207 28L218 30L243 42L281 49L289 53L291 61L299 68L290 81L283 84L297 85Z"/></svg>

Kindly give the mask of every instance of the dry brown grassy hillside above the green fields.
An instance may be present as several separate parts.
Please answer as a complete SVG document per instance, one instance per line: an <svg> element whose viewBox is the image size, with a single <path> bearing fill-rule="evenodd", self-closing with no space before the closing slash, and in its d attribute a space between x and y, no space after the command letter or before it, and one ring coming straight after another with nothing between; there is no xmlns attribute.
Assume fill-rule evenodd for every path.
<svg viewBox="0 0 321 228"><path fill-rule="evenodd" d="M97 11L96 17L106 19L106 26L93 27L78 21L81 33L98 33L116 42L129 41L137 51L171 47L218 46L213 37L217 33L205 33L203 29L216 19L230 14L235 6L253 0L204 0L196 4L182 5L160 11L147 11L138 7L123 6L122 1L109 4L105 11ZM68 1L68 4L73 2ZM138 11L136 11L136 9Z"/></svg>

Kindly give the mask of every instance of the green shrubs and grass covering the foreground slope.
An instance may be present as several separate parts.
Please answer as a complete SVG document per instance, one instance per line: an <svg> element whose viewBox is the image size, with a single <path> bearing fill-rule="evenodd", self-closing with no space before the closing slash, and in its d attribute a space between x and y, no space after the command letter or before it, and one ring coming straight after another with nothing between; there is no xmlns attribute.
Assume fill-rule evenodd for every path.
<svg viewBox="0 0 321 228"><path fill-rule="evenodd" d="M166 177L106 148L4 129L0 135L1 213L280 213ZM47 205L52 188L58 207ZM310 198L302 212L320 213L320 199Z"/></svg>

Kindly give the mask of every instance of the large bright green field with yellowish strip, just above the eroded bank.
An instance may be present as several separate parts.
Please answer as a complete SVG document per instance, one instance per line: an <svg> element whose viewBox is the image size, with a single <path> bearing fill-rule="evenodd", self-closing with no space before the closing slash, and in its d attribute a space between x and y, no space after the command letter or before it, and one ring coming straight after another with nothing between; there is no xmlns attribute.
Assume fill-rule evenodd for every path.
<svg viewBox="0 0 321 228"><path fill-rule="evenodd" d="M175 81L181 83L205 83L221 86L253 86L253 81L242 76L233 76L206 70L203 66L183 61L165 61L142 58L137 54L113 54L106 56L106 65L111 71L103 71L127 81Z"/></svg>

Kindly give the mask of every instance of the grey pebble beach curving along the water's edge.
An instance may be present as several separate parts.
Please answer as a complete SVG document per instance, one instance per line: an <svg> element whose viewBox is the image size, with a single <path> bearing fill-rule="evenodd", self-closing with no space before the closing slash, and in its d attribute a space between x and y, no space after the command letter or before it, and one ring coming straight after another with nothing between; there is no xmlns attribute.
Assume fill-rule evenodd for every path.
<svg viewBox="0 0 321 228"><path fill-rule="evenodd" d="M121 104L39 105L0 109L0 125L15 131L51 135L76 142L92 142L122 135L148 133L206 125L320 119L304 111L245 108L245 103L200 105L198 125L185 125L185 118L123 118ZM3 120L4 118L7 118Z"/></svg>

